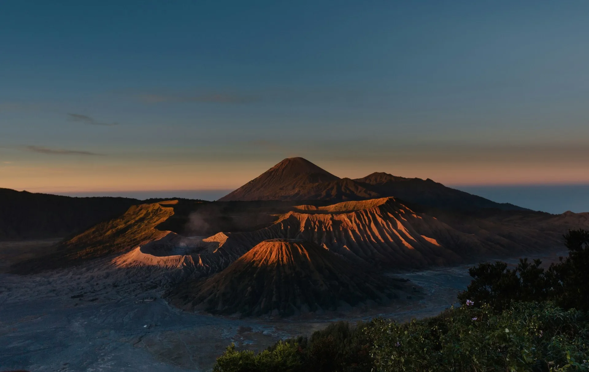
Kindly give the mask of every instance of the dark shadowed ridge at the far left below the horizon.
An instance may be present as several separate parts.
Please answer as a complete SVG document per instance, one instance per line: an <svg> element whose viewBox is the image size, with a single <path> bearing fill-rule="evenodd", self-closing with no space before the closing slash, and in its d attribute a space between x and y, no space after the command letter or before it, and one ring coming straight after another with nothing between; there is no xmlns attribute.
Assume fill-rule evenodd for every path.
<svg viewBox="0 0 589 372"><path fill-rule="evenodd" d="M140 200L0 189L0 240L62 238L120 216Z"/></svg>

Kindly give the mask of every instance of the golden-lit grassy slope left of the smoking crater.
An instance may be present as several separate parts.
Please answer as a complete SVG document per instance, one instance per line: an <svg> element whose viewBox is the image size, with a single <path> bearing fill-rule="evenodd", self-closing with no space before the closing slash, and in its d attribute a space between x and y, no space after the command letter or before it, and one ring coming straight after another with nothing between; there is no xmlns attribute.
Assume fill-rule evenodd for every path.
<svg viewBox="0 0 589 372"><path fill-rule="evenodd" d="M11 271L28 274L79 264L89 259L101 258L117 252L125 252L166 236L170 231L160 231L155 226L164 222L174 210L166 203L131 206L122 216L88 229L68 241L59 243L52 254L18 262Z"/></svg>

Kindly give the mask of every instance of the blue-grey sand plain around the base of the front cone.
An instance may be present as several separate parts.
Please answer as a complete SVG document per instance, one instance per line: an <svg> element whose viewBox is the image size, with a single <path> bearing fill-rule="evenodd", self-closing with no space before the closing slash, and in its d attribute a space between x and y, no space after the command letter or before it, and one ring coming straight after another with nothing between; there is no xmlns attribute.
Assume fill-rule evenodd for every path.
<svg viewBox="0 0 589 372"><path fill-rule="evenodd" d="M563 254L535 256L551 262ZM108 260L39 275L0 274L0 370L206 371L230 343L262 350L332 321L436 315L466 288L471 266L388 274L416 285L415 296L391 307L284 320L180 311L160 298L166 272L118 269Z"/></svg>

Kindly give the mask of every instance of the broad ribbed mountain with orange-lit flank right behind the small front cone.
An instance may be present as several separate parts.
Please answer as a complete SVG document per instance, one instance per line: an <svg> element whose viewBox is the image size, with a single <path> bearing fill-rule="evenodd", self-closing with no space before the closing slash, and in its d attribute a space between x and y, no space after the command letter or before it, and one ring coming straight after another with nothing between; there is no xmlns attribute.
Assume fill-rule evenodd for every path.
<svg viewBox="0 0 589 372"><path fill-rule="evenodd" d="M230 233L221 247L229 252L247 252L267 239L303 239L352 262L378 268L451 265L474 256L536 248L525 239L514 242L496 234L477 236L458 231L431 216L413 212L393 197L295 208L267 228Z"/></svg>

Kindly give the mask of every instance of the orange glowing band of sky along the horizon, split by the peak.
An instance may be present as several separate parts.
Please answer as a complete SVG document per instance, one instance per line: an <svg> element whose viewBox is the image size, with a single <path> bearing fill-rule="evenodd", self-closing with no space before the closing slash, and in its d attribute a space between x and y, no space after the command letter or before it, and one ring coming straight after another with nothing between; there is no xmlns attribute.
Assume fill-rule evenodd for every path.
<svg viewBox="0 0 589 372"><path fill-rule="evenodd" d="M432 179L446 186L575 185L589 183L589 167L549 164L370 164L317 162L339 177L359 178L373 172ZM29 192L132 192L233 190L273 166L246 164L184 164L158 167L17 167L0 166L0 187Z"/></svg>

